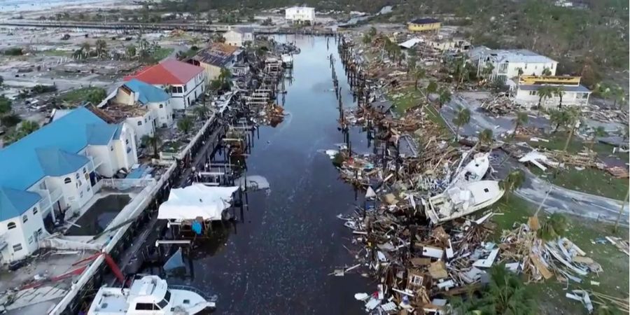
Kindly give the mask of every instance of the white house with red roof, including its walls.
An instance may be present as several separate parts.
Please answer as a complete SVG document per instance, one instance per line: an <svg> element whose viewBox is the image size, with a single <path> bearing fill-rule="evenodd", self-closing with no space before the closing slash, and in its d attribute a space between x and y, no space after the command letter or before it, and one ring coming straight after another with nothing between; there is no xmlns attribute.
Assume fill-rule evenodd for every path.
<svg viewBox="0 0 630 315"><path fill-rule="evenodd" d="M149 66L125 80L138 79L156 87L170 88L172 109L187 109L206 90L206 74L200 66L167 59Z"/></svg>

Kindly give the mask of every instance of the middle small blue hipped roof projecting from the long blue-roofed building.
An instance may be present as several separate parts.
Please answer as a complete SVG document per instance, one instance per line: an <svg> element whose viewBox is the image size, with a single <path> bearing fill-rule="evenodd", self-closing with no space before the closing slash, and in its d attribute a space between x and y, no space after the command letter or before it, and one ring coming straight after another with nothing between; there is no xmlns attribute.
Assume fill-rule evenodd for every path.
<svg viewBox="0 0 630 315"><path fill-rule="evenodd" d="M85 155L77 155L59 150L59 148L36 148L39 164L48 176L63 176L76 172L90 162Z"/></svg>

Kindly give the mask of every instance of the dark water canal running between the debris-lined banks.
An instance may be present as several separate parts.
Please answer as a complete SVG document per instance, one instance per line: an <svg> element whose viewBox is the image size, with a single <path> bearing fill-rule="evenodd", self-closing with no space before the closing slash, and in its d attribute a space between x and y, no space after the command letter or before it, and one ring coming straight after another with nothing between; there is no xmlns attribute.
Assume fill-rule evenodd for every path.
<svg viewBox="0 0 630 315"><path fill-rule="evenodd" d="M344 106L353 99L333 38L279 36L293 41L293 80L286 83L288 116L261 127L247 159L248 175L265 176L269 191L248 194L244 218L221 237L197 241L188 283L218 295L217 314L363 314L354 293L374 290L359 274L330 276L356 262L344 248L351 232L337 214L353 211L356 192L338 179L327 155L343 137L337 130L337 99L328 55L342 87ZM367 152L365 135L353 149ZM363 195L363 193L358 193Z"/></svg>

